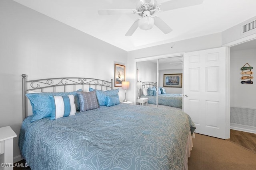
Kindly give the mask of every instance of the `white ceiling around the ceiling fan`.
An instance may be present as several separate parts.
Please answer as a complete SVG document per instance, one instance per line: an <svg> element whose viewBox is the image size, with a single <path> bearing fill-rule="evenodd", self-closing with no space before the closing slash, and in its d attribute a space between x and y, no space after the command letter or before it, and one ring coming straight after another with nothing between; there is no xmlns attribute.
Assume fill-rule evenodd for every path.
<svg viewBox="0 0 256 170"><path fill-rule="evenodd" d="M124 35L140 18L137 14L99 16L99 9L135 9L138 0L14 0L84 33L125 51L222 32L256 16L256 0L204 0L190 6L154 15L173 31L164 34L156 26ZM158 4L168 0L158 0Z"/></svg>

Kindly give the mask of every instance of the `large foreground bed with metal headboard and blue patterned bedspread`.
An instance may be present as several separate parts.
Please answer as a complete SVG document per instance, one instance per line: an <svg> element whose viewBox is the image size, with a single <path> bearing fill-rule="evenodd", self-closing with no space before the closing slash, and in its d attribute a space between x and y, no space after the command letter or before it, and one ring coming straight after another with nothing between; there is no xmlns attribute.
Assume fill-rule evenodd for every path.
<svg viewBox="0 0 256 170"><path fill-rule="evenodd" d="M105 96L106 106L76 111L76 114L66 117L44 117L32 121L34 109L32 115L28 115L26 94L33 91L31 95L44 95L45 88L51 88L53 92L48 93L55 95L56 89L66 92L68 86L79 94L79 100L85 93L110 92L110 96ZM112 81L98 79L47 78L28 81L22 74L22 89L24 121L18 143L22 157L32 170L188 169L191 134L196 127L189 115L182 111L120 102L108 106L107 98L116 96L112 93ZM37 93L36 90L44 93ZM98 100L99 95L95 96L98 104L103 102ZM80 109L83 109L83 104L79 102Z"/></svg>

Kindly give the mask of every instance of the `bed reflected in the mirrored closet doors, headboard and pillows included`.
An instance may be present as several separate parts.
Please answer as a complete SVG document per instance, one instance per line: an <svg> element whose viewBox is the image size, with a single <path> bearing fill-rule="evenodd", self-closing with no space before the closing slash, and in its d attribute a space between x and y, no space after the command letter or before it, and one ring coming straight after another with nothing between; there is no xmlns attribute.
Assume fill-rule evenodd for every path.
<svg viewBox="0 0 256 170"><path fill-rule="evenodd" d="M155 82L142 82L141 97L148 98L148 106L156 107L156 92L148 93L148 90L152 90L154 87L156 88ZM172 107L182 110L182 94L166 93L164 88L159 88L158 92L158 107Z"/></svg>

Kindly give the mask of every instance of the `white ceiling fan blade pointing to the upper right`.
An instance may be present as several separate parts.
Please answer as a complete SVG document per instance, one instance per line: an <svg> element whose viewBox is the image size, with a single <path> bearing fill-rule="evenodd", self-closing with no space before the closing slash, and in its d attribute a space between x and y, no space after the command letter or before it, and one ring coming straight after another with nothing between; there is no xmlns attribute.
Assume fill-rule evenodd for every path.
<svg viewBox="0 0 256 170"><path fill-rule="evenodd" d="M159 7L160 10L168 11L174 10L178 8L184 8L187 6L194 6L202 4L204 0L170 0L167 2L163 2Z"/></svg>

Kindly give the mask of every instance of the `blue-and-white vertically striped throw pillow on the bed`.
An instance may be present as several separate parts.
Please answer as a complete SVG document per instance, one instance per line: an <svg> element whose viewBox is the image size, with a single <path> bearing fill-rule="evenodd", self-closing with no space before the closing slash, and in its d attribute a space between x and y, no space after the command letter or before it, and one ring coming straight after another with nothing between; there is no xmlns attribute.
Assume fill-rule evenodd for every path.
<svg viewBox="0 0 256 170"><path fill-rule="evenodd" d="M51 120L76 114L74 95L49 96L49 98L52 104L52 116L50 118Z"/></svg>

